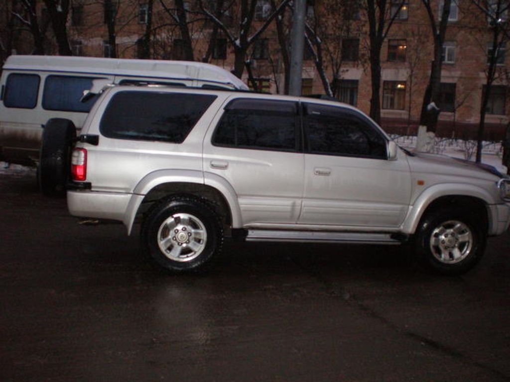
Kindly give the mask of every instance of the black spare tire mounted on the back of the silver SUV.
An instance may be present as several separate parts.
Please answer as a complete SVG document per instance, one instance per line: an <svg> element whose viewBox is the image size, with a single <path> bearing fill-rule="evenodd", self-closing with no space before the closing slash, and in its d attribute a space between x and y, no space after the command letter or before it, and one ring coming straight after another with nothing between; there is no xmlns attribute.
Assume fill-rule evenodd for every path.
<svg viewBox="0 0 510 382"><path fill-rule="evenodd" d="M39 189L44 195L65 196L75 138L76 127L68 119L52 118L44 126L37 171Z"/></svg>

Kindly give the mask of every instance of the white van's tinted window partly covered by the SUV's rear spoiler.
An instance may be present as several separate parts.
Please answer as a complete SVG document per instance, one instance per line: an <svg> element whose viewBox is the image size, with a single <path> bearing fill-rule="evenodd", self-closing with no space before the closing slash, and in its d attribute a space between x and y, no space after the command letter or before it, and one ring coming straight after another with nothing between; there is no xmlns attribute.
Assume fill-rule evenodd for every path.
<svg viewBox="0 0 510 382"><path fill-rule="evenodd" d="M88 113L98 95L87 102L80 102L83 91L92 87L95 77L50 75L44 81L42 107L46 110Z"/></svg>

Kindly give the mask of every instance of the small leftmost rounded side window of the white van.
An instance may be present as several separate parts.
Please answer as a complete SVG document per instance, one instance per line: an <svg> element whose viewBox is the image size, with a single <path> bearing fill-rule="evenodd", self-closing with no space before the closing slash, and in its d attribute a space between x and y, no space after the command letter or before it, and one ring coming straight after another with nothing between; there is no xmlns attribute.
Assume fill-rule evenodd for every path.
<svg viewBox="0 0 510 382"><path fill-rule="evenodd" d="M9 74L6 81L4 105L33 109L37 104L37 93L41 78L37 74Z"/></svg>

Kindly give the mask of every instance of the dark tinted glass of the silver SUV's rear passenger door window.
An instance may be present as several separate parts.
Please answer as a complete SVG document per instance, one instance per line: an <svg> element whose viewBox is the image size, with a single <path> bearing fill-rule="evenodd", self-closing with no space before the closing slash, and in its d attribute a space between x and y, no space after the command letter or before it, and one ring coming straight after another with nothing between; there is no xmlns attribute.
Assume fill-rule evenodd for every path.
<svg viewBox="0 0 510 382"><path fill-rule="evenodd" d="M225 107L215 146L295 151L297 105L289 101L236 99Z"/></svg>

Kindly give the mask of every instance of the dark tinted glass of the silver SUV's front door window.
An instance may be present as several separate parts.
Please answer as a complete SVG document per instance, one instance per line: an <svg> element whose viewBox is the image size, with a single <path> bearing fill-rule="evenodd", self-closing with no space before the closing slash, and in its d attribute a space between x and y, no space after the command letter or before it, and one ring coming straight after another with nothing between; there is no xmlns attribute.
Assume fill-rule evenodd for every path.
<svg viewBox="0 0 510 382"><path fill-rule="evenodd" d="M307 152L386 159L386 140L362 118L334 106L305 104Z"/></svg>

